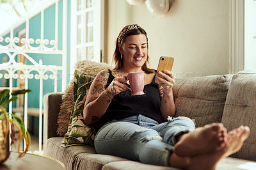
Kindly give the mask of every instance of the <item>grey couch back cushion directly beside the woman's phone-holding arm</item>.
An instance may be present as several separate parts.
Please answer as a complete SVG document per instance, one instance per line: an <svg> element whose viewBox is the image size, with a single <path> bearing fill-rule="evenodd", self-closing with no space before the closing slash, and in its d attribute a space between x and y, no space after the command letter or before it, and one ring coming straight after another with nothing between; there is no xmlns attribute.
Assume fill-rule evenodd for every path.
<svg viewBox="0 0 256 170"><path fill-rule="evenodd" d="M173 86L177 116L195 119L196 127L221 122L232 75L176 79Z"/></svg>

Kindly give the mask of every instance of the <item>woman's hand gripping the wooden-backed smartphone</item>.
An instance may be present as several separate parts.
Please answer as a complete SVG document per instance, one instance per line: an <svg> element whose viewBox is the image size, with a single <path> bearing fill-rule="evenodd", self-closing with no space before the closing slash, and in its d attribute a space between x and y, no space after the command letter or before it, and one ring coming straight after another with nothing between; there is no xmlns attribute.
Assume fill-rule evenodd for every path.
<svg viewBox="0 0 256 170"><path fill-rule="evenodd" d="M163 72L158 72L158 78L160 85L163 87L163 93L169 93L172 91L173 84L175 82L175 77L169 70L164 70Z"/></svg>

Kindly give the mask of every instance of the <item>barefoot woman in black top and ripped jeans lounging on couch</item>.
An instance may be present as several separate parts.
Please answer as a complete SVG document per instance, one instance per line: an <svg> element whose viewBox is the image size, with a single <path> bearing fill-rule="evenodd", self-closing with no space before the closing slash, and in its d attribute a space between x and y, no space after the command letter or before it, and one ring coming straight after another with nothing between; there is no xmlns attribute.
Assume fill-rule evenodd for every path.
<svg viewBox="0 0 256 170"><path fill-rule="evenodd" d="M115 68L95 77L84 104L84 122L101 126L95 137L97 153L145 164L214 169L221 158L238 151L250 134L248 127L227 133L221 123L195 129L189 118L173 118L175 77L168 70L156 77L148 68L147 33L137 24L120 31L113 57ZM142 71L145 95L132 96L125 76Z"/></svg>

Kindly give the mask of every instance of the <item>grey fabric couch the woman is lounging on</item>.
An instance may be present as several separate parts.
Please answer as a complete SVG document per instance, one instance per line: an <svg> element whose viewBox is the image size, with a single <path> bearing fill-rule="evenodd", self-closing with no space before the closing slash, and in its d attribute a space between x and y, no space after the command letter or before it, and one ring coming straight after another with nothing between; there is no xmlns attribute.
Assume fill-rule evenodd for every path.
<svg viewBox="0 0 256 170"><path fill-rule="evenodd" d="M216 169L256 169L256 73L177 79L173 93L177 107L175 116L195 119L196 127L221 122L228 130L239 125L251 128L243 148L221 160ZM67 169L175 169L100 155L90 146L61 147L63 137L58 136L56 130L63 95L49 93L44 97L46 156L60 160Z"/></svg>

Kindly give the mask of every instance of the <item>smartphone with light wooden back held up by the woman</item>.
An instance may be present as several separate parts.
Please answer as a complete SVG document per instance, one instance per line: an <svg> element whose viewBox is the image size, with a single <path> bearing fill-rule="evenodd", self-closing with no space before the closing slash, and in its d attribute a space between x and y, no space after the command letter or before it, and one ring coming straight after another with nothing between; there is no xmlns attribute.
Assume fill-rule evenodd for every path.
<svg viewBox="0 0 256 170"><path fill-rule="evenodd" d="M159 71L160 72L163 72L163 70L169 70L169 71L172 71L172 66L173 66L173 61L174 61L174 58L172 57L161 57L159 59L159 63L158 63L158 66L157 66L157 73L156 73L156 76L159 76ZM155 82L157 84L159 84L159 80L158 79L155 79Z"/></svg>

